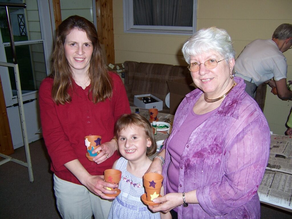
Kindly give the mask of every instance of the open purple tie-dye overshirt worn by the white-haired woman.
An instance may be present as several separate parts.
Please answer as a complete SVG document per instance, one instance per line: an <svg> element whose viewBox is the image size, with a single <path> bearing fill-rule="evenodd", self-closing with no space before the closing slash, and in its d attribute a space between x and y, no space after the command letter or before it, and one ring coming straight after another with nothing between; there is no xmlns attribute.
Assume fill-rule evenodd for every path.
<svg viewBox="0 0 292 219"><path fill-rule="evenodd" d="M202 91L187 94L175 113L162 174L164 179L178 175L178 192L197 190L199 200L179 206L178 218L260 218L257 189L267 165L270 130L258 104L244 91L243 80L234 80L237 85L218 112L194 128L187 144L181 145L178 170L167 175L171 160L167 142L182 127L187 109Z"/></svg>

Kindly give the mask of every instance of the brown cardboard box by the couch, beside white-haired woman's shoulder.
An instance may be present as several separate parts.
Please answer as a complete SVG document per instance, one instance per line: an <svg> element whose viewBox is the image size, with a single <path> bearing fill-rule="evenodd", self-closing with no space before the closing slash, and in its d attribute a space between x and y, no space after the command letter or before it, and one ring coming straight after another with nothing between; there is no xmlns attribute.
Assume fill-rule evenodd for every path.
<svg viewBox="0 0 292 219"><path fill-rule="evenodd" d="M170 91L169 113L174 115L178 105L180 105L180 102L182 102L183 98L185 98L185 95L197 87L194 85L193 79L191 77L166 81L166 83Z"/></svg>

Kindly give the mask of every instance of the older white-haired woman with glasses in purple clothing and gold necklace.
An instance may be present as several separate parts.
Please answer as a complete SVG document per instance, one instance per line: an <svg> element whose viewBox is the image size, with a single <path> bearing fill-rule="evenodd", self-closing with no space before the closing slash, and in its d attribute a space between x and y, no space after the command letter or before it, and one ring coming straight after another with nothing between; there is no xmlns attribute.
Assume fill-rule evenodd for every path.
<svg viewBox="0 0 292 219"><path fill-rule="evenodd" d="M257 189L270 131L243 79L232 74L231 38L223 29L200 29L182 52L199 89L180 103L172 133L147 171L162 173L166 194L149 208L173 218L260 218Z"/></svg>

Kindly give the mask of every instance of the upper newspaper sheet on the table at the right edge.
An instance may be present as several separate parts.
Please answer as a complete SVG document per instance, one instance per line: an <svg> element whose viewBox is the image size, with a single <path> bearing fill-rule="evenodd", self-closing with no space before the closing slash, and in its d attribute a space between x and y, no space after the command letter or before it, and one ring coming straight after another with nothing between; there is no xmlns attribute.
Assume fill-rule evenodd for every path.
<svg viewBox="0 0 292 219"><path fill-rule="evenodd" d="M271 135L270 154L292 157L292 136Z"/></svg>

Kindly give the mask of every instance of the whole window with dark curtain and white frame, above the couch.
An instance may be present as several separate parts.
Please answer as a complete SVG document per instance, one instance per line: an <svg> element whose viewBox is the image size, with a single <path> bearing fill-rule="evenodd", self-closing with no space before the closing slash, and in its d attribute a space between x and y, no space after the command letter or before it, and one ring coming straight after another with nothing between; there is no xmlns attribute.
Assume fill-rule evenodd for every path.
<svg viewBox="0 0 292 219"><path fill-rule="evenodd" d="M124 32L191 35L197 0L124 0Z"/></svg>

